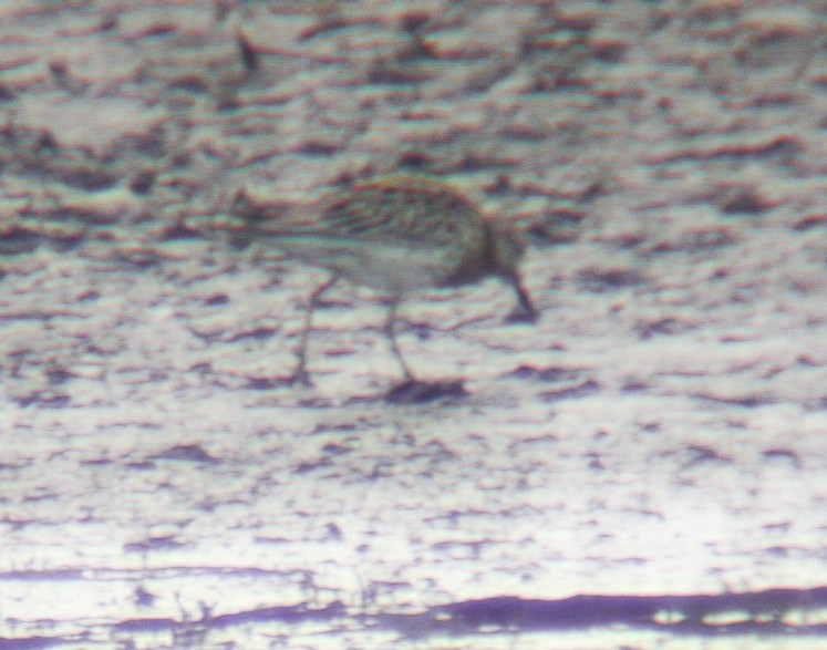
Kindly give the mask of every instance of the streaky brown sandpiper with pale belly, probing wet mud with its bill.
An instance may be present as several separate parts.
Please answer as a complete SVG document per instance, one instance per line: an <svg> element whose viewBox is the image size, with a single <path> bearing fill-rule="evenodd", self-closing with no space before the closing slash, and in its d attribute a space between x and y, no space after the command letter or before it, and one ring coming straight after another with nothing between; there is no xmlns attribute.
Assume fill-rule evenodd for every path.
<svg viewBox="0 0 827 650"><path fill-rule="evenodd" d="M252 229L245 238L271 245L289 258L331 274L310 296L293 375L298 381L310 383L307 344L313 311L340 278L391 297L384 332L404 373L403 386L425 383L416 379L396 341L396 311L406 293L498 276L516 292L511 319L536 319L519 279L517 267L525 250L519 236L484 218L468 198L446 183L410 176L379 178L279 217L268 217L266 208L240 193L235 213Z"/></svg>

